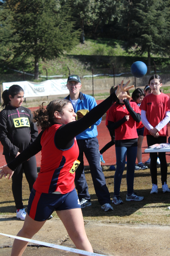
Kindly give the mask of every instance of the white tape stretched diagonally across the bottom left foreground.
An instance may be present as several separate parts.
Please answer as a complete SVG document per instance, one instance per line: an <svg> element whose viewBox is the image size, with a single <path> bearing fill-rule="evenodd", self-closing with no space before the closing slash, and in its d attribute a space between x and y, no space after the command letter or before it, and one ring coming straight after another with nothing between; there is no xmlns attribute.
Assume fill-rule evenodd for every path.
<svg viewBox="0 0 170 256"><path fill-rule="evenodd" d="M38 241L38 240L21 237L21 236L12 236L12 235L7 235L7 234L3 234L3 233L0 233L0 235L9 236L9 237L16 238L16 239L26 241L26 242L30 242L33 244L41 244L44 246L48 246L48 247L52 247L52 248L56 248L56 249L60 249L60 250L68 251L68 252L80 253L80 254L89 255L89 256L106 256L106 255L95 253L95 252L87 252L87 251L79 250L76 248L70 248L70 247L66 247L66 246L62 246L62 245L58 245L58 244L50 244L50 243L46 243L46 242L42 242L42 241Z"/></svg>

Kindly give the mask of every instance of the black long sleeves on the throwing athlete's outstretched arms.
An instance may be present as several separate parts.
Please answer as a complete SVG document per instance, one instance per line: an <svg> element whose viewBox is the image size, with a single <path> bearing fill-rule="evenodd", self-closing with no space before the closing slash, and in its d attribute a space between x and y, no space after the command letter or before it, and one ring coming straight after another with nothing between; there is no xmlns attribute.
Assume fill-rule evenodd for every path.
<svg viewBox="0 0 170 256"><path fill-rule="evenodd" d="M62 125L55 133L55 144L57 148L70 148L74 143L75 136L97 122L117 99L118 98L114 92L81 119ZM42 134L43 131L40 132L36 140L29 147L23 150L11 163L8 164L8 167L11 170L15 170L19 164L27 161L31 156L34 156L41 151Z"/></svg>

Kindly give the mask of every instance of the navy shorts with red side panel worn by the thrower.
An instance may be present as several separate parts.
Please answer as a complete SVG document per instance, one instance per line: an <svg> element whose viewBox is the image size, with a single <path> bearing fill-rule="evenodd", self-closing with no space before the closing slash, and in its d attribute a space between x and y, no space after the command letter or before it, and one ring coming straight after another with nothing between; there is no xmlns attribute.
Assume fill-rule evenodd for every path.
<svg viewBox="0 0 170 256"><path fill-rule="evenodd" d="M76 189L67 194L46 194L31 190L27 213L36 221L48 220L54 211L81 208Z"/></svg>

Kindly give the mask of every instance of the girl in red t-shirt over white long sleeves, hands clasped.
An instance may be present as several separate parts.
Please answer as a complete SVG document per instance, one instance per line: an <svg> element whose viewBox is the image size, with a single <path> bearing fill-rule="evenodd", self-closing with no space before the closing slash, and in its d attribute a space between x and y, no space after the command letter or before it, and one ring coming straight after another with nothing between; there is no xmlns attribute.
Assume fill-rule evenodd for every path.
<svg viewBox="0 0 170 256"><path fill-rule="evenodd" d="M144 97L140 109L141 120L144 124L144 136L146 136L148 147L156 143L166 143L168 136L167 123L170 121L170 99L160 91L162 80L160 76L153 75L149 79L152 93ZM166 152L158 153L160 160L161 182L163 192L170 192L167 180ZM151 194L158 193L157 181L157 152L150 153L150 172L152 178Z"/></svg>

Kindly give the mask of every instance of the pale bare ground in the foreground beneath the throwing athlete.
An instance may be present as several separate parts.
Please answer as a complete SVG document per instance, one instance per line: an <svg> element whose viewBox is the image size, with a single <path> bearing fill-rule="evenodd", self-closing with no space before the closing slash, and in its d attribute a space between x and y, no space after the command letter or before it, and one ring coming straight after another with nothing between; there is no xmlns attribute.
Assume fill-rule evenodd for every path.
<svg viewBox="0 0 170 256"><path fill-rule="evenodd" d="M107 213L106 213L107 214ZM23 221L0 216L1 232L16 235ZM86 221L86 234L96 253L114 256L137 255L170 255L170 227L159 225L131 225L100 221ZM48 220L41 230L33 237L35 240L75 247L67 235L62 222L56 218ZM0 255L10 255L13 238L0 236ZM78 255L53 248L32 247L30 244L24 256L37 255ZM4 248L7 246L6 248Z"/></svg>

